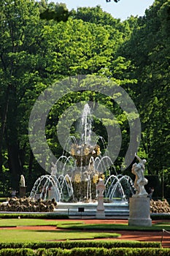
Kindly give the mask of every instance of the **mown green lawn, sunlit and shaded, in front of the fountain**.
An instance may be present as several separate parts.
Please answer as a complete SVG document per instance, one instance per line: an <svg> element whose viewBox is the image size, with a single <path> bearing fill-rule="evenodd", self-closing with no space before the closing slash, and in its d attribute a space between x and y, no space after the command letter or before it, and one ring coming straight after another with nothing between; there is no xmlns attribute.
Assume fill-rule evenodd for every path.
<svg viewBox="0 0 170 256"><path fill-rule="evenodd" d="M36 230L36 226L56 226L56 230ZM35 226L35 230L0 229L1 242L60 241L93 238L116 238L118 230L170 230L170 222L161 222L152 227L129 227L128 224L84 224L82 221L56 221L46 219L0 219L1 227ZM61 230L63 229L63 230ZM80 231L81 230L81 231ZM101 232L98 232L98 231ZM112 231L112 232L110 232ZM110 233L109 233L110 232Z"/></svg>

